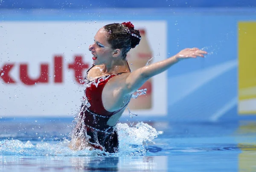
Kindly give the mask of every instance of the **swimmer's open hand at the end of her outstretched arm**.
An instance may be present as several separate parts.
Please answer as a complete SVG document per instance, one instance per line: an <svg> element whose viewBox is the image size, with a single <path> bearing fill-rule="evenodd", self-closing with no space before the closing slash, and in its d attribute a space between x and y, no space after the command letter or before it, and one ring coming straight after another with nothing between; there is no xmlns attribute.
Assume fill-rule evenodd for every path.
<svg viewBox="0 0 256 172"><path fill-rule="evenodd" d="M207 54L207 52L200 50L198 48L183 49L178 54L175 55L175 58L177 60L182 60L186 58L204 57L204 54Z"/></svg>

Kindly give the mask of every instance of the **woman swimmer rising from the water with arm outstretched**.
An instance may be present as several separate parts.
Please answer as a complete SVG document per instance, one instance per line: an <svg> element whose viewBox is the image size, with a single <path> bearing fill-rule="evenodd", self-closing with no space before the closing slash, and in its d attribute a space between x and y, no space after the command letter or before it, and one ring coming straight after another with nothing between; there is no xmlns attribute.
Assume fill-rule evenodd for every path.
<svg viewBox="0 0 256 172"><path fill-rule="evenodd" d="M149 78L164 72L183 59L204 57L198 48L183 49L176 55L131 72L126 55L140 43L140 32L131 22L112 23L96 33L89 46L93 65L87 70L80 113L76 116L70 148L100 149L114 153L119 141L116 123L131 96Z"/></svg>

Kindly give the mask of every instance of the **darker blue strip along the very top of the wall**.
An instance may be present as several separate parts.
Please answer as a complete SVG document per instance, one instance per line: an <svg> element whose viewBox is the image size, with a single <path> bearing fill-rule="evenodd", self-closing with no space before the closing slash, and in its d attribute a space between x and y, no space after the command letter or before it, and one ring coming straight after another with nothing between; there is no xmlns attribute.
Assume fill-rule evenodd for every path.
<svg viewBox="0 0 256 172"><path fill-rule="evenodd" d="M254 0L1 0L2 8L159 8L159 7L253 7Z"/></svg>

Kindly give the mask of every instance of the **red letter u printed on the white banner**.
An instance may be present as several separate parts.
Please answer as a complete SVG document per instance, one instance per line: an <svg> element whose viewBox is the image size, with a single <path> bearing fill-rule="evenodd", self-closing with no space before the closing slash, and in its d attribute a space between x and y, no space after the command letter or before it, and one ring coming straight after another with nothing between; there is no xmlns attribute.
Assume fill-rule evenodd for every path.
<svg viewBox="0 0 256 172"><path fill-rule="evenodd" d="M35 83L48 82L48 64L41 64L40 76L36 79L31 79L28 76L28 65L20 64L20 80L26 85L33 85Z"/></svg>

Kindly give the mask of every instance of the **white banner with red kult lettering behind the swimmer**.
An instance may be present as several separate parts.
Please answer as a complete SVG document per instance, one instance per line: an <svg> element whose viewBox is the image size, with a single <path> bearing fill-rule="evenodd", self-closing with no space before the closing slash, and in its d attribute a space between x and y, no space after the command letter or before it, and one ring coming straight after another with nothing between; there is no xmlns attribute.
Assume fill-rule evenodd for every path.
<svg viewBox="0 0 256 172"><path fill-rule="evenodd" d="M98 29L114 22L121 21L1 23L0 116L73 117L79 111L84 94L78 76L84 77L92 64L88 47L93 43ZM153 62L165 59L166 22L132 23L136 29L145 29ZM144 44L140 45L140 49ZM150 106L130 107L131 112L147 116L167 115L166 87L166 72L153 77ZM140 101L143 103L147 100L146 97ZM125 115L128 115L128 111L125 111Z"/></svg>

